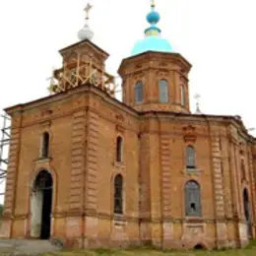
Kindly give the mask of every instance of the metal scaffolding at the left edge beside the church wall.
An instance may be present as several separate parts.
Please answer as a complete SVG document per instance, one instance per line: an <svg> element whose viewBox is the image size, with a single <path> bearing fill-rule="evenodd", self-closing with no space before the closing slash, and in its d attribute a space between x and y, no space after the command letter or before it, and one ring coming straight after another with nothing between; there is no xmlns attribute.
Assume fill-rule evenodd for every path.
<svg viewBox="0 0 256 256"><path fill-rule="evenodd" d="M8 167L8 152L11 141L11 118L6 114L0 115L2 125L0 134L0 196L4 195Z"/></svg>

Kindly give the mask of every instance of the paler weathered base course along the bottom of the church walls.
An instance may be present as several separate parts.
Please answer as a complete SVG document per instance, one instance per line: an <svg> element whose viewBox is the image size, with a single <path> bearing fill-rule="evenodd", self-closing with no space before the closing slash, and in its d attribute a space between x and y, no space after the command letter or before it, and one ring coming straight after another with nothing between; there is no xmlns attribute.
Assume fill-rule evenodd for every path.
<svg viewBox="0 0 256 256"><path fill-rule="evenodd" d="M56 219L57 220L57 219ZM247 226L239 226L239 237L227 232L227 224L206 224L202 222L186 222L175 224L137 224L129 221L100 220L86 217L64 218L65 229L61 232L62 222L56 221L52 230L55 238L63 241L67 248L129 248L155 247L160 249L193 249L200 245L205 249L228 249L244 247L248 244ZM85 228L82 228L82 225ZM235 228L233 226L233 228ZM25 230L30 230L26 220L6 219L2 221L0 236L4 238L30 238ZM141 228L140 228L141 227ZM215 235L215 231L216 234ZM84 232L84 233L83 233ZM236 239L236 240L235 240Z"/></svg>

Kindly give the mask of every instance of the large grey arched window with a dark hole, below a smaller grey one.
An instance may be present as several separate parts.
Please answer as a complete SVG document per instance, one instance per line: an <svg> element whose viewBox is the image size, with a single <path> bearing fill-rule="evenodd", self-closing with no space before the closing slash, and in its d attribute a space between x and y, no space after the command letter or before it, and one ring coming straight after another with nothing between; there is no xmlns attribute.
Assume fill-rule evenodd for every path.
<svg viewBox="0 0 256 256"><path fill-rule="evenodd" d="M186 216L201 217L201 192L199 184L190 180L185 185Z"/></svg>

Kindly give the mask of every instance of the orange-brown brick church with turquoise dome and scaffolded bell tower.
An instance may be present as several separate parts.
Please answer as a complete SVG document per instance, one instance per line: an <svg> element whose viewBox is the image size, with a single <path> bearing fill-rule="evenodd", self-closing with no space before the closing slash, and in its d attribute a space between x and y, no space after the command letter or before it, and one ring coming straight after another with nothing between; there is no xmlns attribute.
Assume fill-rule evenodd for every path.
<svg viewBox="0 0 256 256"><path fill-rule="evenodd" d="M80 248L246 245L256 237L256 139L239 116L191 113L191 64L161 37L154 2L145 37L118 69L122 101L88 20L60 50L51 95L5 109L1 237Z"/></svg>

